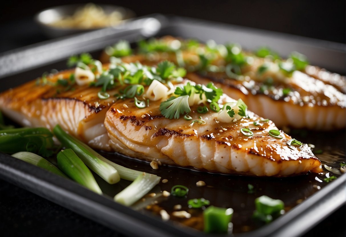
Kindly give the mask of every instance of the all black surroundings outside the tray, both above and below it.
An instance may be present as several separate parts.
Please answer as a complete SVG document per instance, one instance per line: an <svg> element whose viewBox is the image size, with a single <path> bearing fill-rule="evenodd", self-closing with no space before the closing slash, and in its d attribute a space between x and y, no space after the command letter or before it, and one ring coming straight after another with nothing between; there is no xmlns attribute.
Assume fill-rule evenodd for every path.
<svg viewBox="0 0 346 237"><path fill-rule="evenodd" d="M46 40L35 25L38 11L85 1L3 1L0 52ZM93 1L134 10L137 16L175 14L345 43L345 1ZM212 37L211 37L212 38ZM306 236L345 236L345 207ZM119 236L52 202L0 180L2 236Z"/></svg>

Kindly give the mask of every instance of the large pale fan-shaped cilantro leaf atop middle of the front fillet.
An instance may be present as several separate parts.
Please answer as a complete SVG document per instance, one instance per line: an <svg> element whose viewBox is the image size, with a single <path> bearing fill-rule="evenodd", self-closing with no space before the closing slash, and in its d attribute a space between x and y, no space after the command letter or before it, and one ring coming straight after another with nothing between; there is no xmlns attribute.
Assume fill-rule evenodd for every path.
<svg viewBox="0 0 346 237"><path fill-rule="evenodd" d="M160 104L160 111L166 118L179 118L180 114L191 112L189 106L189 96L183 95L179 97L172 96Z"/></svg>

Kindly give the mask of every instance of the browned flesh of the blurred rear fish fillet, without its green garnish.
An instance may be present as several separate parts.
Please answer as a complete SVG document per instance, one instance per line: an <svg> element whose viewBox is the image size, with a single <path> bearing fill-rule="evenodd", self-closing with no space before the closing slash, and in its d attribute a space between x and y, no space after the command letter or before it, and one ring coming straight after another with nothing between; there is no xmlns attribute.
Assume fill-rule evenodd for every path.
<svg viewBox="0 0 346 237"><path fill-rule="evenodd" d="M186 41L166 36L157 39L161 45L170 46L176 41L180 45ZM158 43L157 43L158 44ZM198 46L205 49L206 46ZM270 58L260 58L253 53L243 51L244 55L251 58L251 64L245 64L239 69L241 75L225 72L203 72L198 70L200 58L196 48L181 47L173 51L154 51L139 53L123 57L124 61L140 61L146 65L157 64L163 60L170 60L179 64L183 61L190 72L186 78L199 83L213 82L222 88L228 96L241 98L254 113L269 118L278 127L290 126L293 128L308 128L313 130L342 129L346 123L346 79L336 73L325 69L307 65L304 69L294 70L286 75L279 69L278 63ZM162 48L162 47L161 47ZM180 57L177 57L180 52ZM103 61L109 56L103 54ZM180 64L182 64L180 62ZM224 58L216 55L211 65L226 66ZM259 73L263 65L268 69Z"/></svg>

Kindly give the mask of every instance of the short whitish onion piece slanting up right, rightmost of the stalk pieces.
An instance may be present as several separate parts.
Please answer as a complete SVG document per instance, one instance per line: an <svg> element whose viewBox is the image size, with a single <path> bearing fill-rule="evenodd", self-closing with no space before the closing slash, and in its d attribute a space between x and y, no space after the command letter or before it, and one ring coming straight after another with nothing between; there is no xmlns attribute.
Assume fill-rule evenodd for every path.
<svg viewBox="0 0 346 237"><path fill-rule="evenodd" d="M144 195L146 195L150 190L152 190L158 182L160 182L161 177L154 174L148 174L142 172L129 186L124 190L119 192L114 200L125 206L131 206L133 203L138 201Z"/></svg>

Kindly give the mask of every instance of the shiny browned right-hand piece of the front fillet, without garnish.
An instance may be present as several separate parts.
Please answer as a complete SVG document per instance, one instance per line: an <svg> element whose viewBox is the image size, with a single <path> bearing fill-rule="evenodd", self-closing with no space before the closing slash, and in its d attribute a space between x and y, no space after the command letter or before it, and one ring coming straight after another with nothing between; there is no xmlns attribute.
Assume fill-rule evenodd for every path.
<svg viewBox="0 0 346 237"><path fill-rule="evenodd" d="M223 100L226 102L229 97L225 96ZM206 125L190 127L191 121L182 117L164 118L158 110L161 101L151 102L148 108L143 109L136 109L133 102L133 99L126 99L113 104L107 112L105 126L113 141L112 148L128 148L136 152L136 158L255 176L288 176L308 170L319 171L320 162L310 148L291 150L286 145L290 136L282 132L284 138L279 140L268 134L269 130L276 129L272 122L252 130L252 138L240 133L243 127L255 127L253 122L259 117L251 112L252 118L231 124L218 123L214 119L217 113L208 112L202 114ZM191 109L194 111L197 106ZM190 114L193 120L201 115Z"/></svg>

